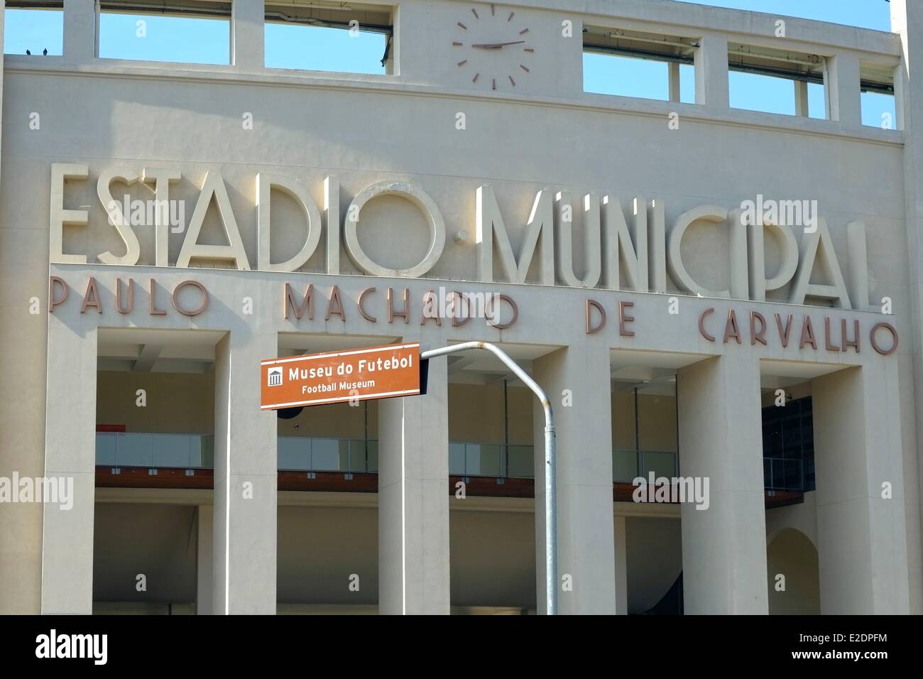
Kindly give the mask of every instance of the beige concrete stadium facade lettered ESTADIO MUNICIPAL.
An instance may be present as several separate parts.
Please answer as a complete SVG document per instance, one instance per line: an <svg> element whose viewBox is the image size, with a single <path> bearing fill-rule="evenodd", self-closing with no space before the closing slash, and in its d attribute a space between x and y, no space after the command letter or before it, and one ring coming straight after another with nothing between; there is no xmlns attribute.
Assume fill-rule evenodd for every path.
<svg viewBox="0 0 923 679"><path fill-rule="evenodd" d="M554 408L560 612L923 612L923 5L173 5L226 10L227 66L101 58L94 0L0 57L0 612L544 612L545 422L497 360L259 408L267 358L470 340ZM279 6L384 27L385 73L265 67ZM584 91L587 53L667 100Z"/></svg>

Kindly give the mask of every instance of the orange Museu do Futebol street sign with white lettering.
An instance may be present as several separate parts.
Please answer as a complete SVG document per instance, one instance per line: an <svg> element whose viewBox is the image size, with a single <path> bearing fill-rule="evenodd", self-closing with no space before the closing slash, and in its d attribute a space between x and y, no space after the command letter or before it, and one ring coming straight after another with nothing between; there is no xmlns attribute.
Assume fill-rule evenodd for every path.
<svg viewBox="0 0 923 679"><path fill-rule="evenodd" d="M260 364L263 410L420 393L420 343L272 358Z"/></svg>

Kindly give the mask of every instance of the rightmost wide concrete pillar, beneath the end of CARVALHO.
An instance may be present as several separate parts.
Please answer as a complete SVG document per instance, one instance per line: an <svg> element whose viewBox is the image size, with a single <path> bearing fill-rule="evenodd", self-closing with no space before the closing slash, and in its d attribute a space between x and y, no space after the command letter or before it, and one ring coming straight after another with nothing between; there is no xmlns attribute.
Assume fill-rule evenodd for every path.
<svg viewBox="0 0 923 679"><path fill-rule="evenodd" d="M898 371L881 360L812 382L824 614L909 612Z"/></svg>

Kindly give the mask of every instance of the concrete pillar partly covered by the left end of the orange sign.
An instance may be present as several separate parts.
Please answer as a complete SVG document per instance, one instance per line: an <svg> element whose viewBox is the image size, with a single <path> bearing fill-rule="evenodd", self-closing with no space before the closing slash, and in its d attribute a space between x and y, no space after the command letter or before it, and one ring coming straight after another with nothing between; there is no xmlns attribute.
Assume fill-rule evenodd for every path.
<svg viewBox="0 0 923 679"><path fill-rule="evenodd" d="M259 409L275 333L235 328L215 347L214 612L276 612L277 416Z"/></svg>

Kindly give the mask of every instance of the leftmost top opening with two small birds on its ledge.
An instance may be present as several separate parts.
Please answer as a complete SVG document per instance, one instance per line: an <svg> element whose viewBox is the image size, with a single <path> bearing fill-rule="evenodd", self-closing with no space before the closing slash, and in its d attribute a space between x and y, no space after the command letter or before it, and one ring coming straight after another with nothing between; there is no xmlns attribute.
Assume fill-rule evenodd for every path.
<svg viewBox="0 0 923 679"><path fill-rule="evenodd" d="M64 54L62 0L6 0L3 48L6 55Z"/></svg>

